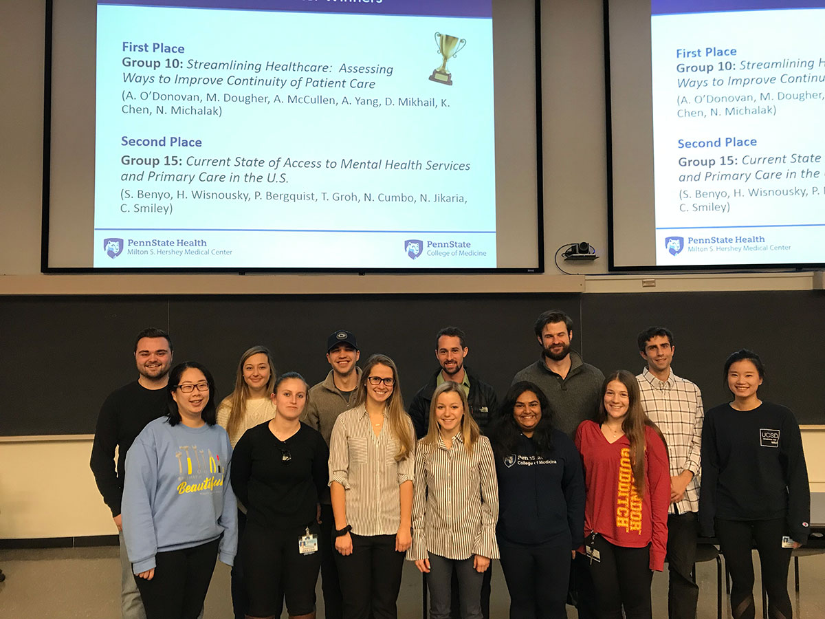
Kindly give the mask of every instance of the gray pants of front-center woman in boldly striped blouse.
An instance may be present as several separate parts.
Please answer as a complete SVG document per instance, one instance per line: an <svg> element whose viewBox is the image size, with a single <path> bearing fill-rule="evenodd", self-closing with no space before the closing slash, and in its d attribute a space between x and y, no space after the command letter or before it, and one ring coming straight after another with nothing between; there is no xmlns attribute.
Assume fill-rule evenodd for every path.
<svg viewBox="0 0 825 619"><path fill-rule="evenodd" d="M430 619L450 619L450 581L453 569L459 580L461 619L482 619L481 584L484 574L475 571L473 557L454 560L432 553L430 553L430 573L427 574L427 588L430 589Z"/></svg>

